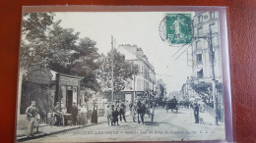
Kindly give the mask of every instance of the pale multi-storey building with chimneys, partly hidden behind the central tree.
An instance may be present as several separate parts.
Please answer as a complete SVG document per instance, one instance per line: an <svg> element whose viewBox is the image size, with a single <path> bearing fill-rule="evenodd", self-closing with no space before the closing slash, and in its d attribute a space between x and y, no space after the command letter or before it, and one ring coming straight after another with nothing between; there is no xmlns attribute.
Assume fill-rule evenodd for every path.
<svg viewBox="0 0 256 143"><path fill-rule="evenodd" d="M139 73L133 79L127 81L125 89L122 91L125 100L133 101L137 96L153 94L156 90L156 72L153 65L149 62L142 48L137 45L119 45L117 50L125 55L127 61L131 61L139 68Z"/></svg>

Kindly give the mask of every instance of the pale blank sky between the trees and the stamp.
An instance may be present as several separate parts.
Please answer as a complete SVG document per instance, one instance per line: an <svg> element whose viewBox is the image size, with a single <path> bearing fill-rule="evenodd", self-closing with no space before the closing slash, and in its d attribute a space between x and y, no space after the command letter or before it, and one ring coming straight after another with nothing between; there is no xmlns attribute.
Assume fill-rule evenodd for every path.
<svg viewBox="0 0 256 143"><path fill-rule="evenodd" d="M95 40L99 53L110 51L111 35L115 38L116 48L120 44L136 44L141 47L155 67L157 79L162 78L165 83L168 94L180 91L192 69L187 66L187 52L176 59L188 45L173 47L161 40L159 27L164 16L163 12L56 13L56 19L62 21L61 26L74 28L80 32L81 38L90 37Z"/></svg>

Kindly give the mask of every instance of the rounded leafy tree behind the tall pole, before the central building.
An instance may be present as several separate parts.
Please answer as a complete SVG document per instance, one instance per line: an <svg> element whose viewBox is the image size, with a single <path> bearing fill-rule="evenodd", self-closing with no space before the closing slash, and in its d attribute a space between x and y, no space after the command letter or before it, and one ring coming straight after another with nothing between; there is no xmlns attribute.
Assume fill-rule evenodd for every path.
<svg viewBox="0 0 256 143"><path fill-rule="evenodd" d="M125 88L128 79L133 79L133 75L137 74L139 69L133 62L126 61L125 55L121 54L116 49L111 50L106 56L101 55L100 67L97 74L103 91L107 91L111 88L112 59L114 94L116 94Z"/></svg>

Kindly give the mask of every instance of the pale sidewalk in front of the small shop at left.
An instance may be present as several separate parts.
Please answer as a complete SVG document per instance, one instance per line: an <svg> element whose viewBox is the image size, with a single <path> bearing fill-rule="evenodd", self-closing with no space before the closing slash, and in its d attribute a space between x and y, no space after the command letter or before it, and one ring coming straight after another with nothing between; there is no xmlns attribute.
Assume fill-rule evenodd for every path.
<svg viewBox="0 0 256 143"><path fill-rule="evenodd" d="M97 123L102 123L105 122L106 118L105 117L98 117L97 118ZM35 139L35 138L39 138L39 137L43 137L43 136L47 136L47 135L52 135L52 134L56 134L56 133L60 133L60 132L64 132L64 131L68 131L68 130L73 130L73 129L78 129L78 128L82 128L82 127L86 127L86 126L91 126L94 125L94 123L91 123L91 120L88 120L88 123L85 125L74 125L74 126L50 126L48 124L40 124L39 125L39 132L35 133L33 137L28 137L28 133L26 129L17 129L16 130L16 141L18 142L22 142L22 141L26 141L26 140L31 140L31 139Z"/></svg>

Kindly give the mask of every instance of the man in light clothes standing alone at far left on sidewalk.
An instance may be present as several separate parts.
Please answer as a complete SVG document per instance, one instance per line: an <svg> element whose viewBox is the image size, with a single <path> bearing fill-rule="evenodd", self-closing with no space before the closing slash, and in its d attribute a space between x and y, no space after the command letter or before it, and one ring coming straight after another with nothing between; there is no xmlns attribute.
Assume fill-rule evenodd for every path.
<svg viewBox="0 0 256 143"><path fill-rule="evenodd" d="M33 127L36 127L36 132L38 132L39 129L39 122L38 119L36 119L36 115L38 114L38 110L35 107L35 102L32 101L32 105L27 108L26 115L27 119L29 120L28 123L28 133L29 136L33 136Z"/></svg>

